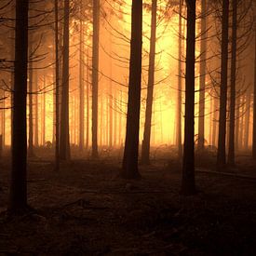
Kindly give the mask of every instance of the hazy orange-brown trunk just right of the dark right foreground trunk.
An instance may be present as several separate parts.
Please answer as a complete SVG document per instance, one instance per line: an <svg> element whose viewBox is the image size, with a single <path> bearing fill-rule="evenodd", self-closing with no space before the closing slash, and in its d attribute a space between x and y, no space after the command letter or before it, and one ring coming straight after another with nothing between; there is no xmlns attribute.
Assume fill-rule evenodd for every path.
<svg viewBox="0 0 256 256"><path fill-rule="evenodd" d="M207 59L207 7L206 0L201 0L201 58L199 86L199 119L198 144L199 150L205 147L205 89L206 89L206 59Z"/></svg>

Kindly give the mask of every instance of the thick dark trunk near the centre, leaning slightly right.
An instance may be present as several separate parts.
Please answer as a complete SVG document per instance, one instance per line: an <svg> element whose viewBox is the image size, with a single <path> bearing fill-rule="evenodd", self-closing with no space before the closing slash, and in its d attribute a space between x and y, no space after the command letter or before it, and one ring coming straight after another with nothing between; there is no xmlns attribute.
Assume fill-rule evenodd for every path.
<svg viewBox="0 0 256 256"><path fill-rule="evenodd" d="M141 110L142 0L132 0L128 83L128 114L122 176L140 177L138 170Z"/></svg>

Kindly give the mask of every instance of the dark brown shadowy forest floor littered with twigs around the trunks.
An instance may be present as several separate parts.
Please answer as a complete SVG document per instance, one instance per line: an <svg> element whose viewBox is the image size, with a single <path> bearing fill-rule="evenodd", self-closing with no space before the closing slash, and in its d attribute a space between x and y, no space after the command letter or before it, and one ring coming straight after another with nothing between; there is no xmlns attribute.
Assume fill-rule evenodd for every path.
<svg viewBox="0 0 256 256"><path fill-rule="evenodd" d="M241 157L228 175L202 163L197 195L182 196L175 160L155 160L140 167L140 181L125 181L111 157L74 159L59 172L34 157L28 201L35 210L9 217L3 158L0 255L256 255L256 163Z"/></svg>

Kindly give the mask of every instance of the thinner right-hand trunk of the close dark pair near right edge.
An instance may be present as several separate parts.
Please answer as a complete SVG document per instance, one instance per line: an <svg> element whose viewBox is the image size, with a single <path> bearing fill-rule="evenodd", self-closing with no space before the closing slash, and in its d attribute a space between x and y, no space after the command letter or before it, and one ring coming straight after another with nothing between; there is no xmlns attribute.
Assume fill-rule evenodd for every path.
<svg viewBox="0 0 256 256"><path fill-rule="evenodd" d="M232 0L232 56L231 56L231 81L230 81L230 122L229 122L229 165L235 165L235 118L236 118L236 34L237 34L237 0Z"/></svg>

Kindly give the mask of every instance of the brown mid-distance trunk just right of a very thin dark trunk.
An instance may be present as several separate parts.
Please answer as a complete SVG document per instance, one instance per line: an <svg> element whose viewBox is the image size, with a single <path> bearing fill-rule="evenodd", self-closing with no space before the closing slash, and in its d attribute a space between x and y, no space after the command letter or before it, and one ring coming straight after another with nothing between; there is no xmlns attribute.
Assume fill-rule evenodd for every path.
<svg viewBox="0 0 256 256"><path fill-rule="evenodd" d="M70 1L64 0L63 61L62 61L62 91L61 91L61 138L60 138L60 158L61 158L61 160L70 160L69 15L70 15Z"/></svg>

